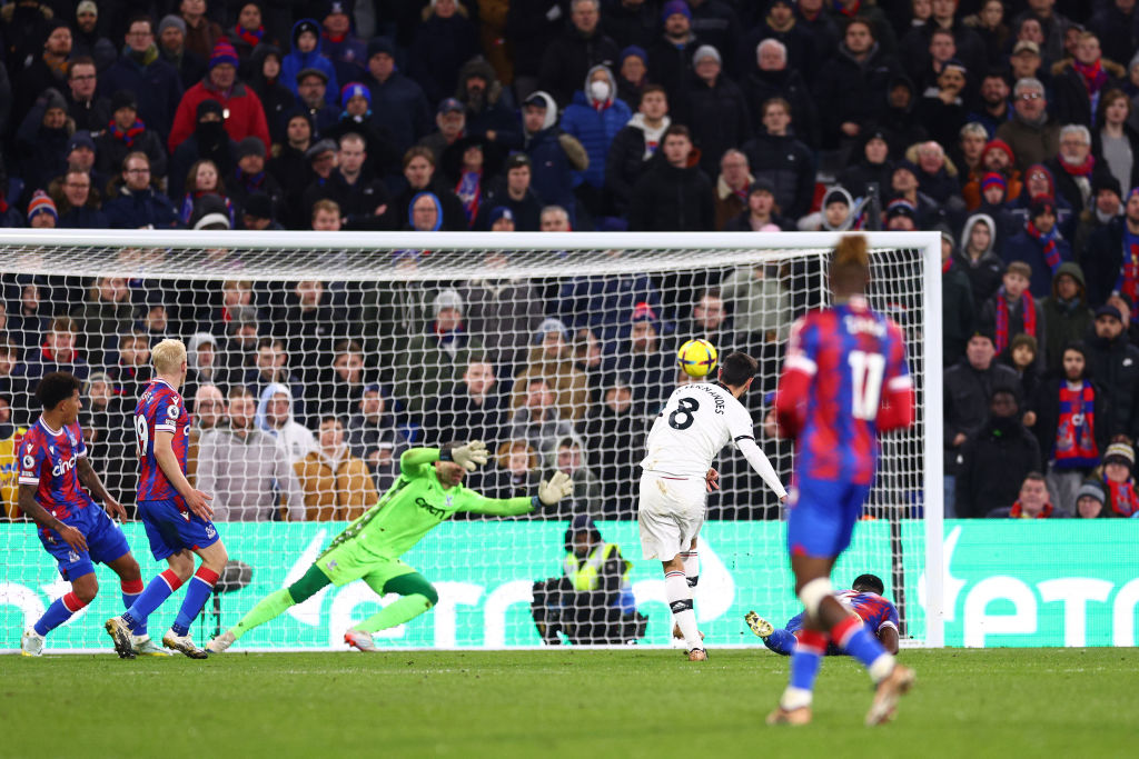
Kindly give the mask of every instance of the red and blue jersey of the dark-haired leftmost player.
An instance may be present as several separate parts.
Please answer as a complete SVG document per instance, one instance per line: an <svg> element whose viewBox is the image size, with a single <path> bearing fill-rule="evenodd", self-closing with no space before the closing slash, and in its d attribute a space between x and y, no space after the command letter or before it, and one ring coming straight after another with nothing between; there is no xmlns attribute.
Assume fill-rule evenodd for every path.
<svg viewBox="0 0 1139 759"><path fill-rule="evenodd" d="M64 520L95 505L80 487L75 470L80 457L85 455L87 444L77 422L54 430L40 416L19 444L19 484L39 486L35 502L56 519Z"/></svg>

